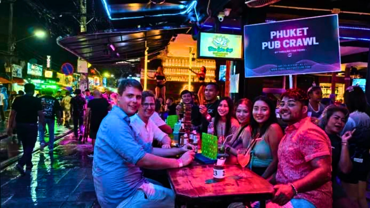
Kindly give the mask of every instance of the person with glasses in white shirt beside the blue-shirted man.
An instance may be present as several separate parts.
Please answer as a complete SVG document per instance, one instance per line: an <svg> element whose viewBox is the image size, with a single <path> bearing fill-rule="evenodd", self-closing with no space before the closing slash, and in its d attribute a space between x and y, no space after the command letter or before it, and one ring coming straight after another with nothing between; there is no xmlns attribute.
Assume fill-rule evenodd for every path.
<svg viewBox="0 0 370 208"><path fill-rule="evenodd" d="M138 113L130 117L134 131L146 145L152 145L153 139L155 139L162 143L162 148L171 148L171 138L149 119L154 113L155 95L151 91L144 91L141 96L141 106Z"/></svg>

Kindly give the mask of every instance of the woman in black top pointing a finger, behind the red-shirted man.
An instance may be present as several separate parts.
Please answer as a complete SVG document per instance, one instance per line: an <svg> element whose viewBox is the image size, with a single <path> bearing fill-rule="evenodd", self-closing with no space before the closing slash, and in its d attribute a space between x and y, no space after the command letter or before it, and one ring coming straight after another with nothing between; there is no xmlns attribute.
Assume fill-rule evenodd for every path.
<svg viewBox="0 0 370 208"><path fill-rule="evenodd" d="M348 140L352 137L353 131L347 131L342 137L339 136L348 120L349 112L347 108L329 105L322 115L320 127L326 132L332 144L333 207L353 207L346 192L337 182L339 172L347 174L352 169Z"/></svg>

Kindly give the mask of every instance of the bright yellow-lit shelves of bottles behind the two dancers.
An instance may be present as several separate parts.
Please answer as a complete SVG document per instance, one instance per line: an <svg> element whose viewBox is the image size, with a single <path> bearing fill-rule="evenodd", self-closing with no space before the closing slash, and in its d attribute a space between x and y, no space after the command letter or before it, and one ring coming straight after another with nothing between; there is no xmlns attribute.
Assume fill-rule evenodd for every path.
<svg viewBox="0 0 370 208"><path fill-rule="evenodd" d="M164 74L167 81L188 82L189 79L189 58L187 57L168 57L162 60ZM205 82L215 80L216 61L195 59L192 62L192 70L196 73L201 72L201 67L206 67ZM148 70L148 75L153 77L156 70ZM141 70L141 77L144 77L144 70ZM151 79L148 77L148 79ZM191 72L191 81L198 82L199 78Z"/></svg>

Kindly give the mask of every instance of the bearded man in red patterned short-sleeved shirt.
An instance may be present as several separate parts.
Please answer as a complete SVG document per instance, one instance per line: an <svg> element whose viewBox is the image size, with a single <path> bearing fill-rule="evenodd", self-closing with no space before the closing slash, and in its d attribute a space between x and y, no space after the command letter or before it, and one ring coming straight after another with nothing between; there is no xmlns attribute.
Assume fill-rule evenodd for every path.
<svg viewBox="0 0 370 208"><path fill-rule="evenodd" d="M332 207L330 140L307 117L308 98L300 89L281 96L280 114L288 123L277 152L277 172L270 178L275 196L267 207Z"/></svg>

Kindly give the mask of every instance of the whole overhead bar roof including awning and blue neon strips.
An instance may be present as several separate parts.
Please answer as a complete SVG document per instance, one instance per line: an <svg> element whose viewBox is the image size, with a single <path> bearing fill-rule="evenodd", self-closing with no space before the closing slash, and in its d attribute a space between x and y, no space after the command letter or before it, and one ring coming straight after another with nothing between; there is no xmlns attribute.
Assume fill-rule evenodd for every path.
<svg viewBox="0 0 370 208"><path fill-rule="evenodd" d="M370 15L366 11L370 9L370 3L364 0L354 0L351 4L345 0L281 0L263 8L248 8L245 0L100 1L100 9L110 22L109 28L102 32L96 30L74 37L59 37L57 40L61 47L93 64L110 64L143 57L145 40L149 54L154 56L165 49L173 35L187 33L196 38L198 31L214 31L216 24L219 24L221 32L241 34L241 22L245 21L245 16L248 16L249 24L253 24L337 12L340 33L343 34L341 45L369 47ZM225 8L231 9L231 13L224 21L217 21L217 15ZM116 51L111 50L110 44ZM362 53L369 53L361 51L361 57L365 57ZM350 55L349 61L356 57Z"/></svg>

